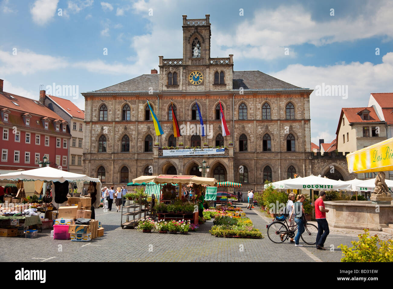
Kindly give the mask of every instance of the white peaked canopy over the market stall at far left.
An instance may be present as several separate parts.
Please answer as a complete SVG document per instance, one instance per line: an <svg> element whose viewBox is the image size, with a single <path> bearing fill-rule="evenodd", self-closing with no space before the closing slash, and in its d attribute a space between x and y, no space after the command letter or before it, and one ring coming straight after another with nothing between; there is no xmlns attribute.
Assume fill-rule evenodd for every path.
<svg viewBox="0 0 393 289"><path fill-rule="evenodd" d="M86 175L79 175L70 173L68 171L61 171L51 167L43 167L38 169L29 169L28 171L18 171L15 173L7 173L0 175L0 180L41 180L44 182L100 182L99 179L90 178Z"/></svg>

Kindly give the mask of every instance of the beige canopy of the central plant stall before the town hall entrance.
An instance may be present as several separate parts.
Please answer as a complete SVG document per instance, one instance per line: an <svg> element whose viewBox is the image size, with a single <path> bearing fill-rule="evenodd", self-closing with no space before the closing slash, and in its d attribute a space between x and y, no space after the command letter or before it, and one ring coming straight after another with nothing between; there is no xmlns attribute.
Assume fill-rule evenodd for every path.
<svg viewBox="0 0 393 289"><path fill-rule="evenodd" d="M133 179L132 182L155 182L156 184L173 183L173 184L200 184L208 186L217 186L215 178L203 178L187 175L158 175L158 176L141 176Z"/></svg>

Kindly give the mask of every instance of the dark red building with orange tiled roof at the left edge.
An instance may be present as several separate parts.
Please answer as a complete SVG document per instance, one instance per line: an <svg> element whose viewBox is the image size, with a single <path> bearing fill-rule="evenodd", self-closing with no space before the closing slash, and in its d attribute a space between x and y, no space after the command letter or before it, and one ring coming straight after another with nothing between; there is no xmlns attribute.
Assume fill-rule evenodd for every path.
<svg viewBox="0 0 393 289"><path fill-rule="evenodd" d="M34 169L44 155L68 171L68 123L39 101L3 91L0 79L0 169Z"/></svg>

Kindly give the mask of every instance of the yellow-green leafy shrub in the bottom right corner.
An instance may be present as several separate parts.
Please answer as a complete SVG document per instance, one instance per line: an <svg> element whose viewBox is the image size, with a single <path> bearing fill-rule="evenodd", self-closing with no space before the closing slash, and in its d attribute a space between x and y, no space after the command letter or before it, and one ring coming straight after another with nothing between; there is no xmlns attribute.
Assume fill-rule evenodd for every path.
<svg viewBox="0 0 393 289"><path fill-rule="evenodd" d="M342 262L392 262L393 240L381 241L377 235L369 236L369 229L359 234L359 241L352 241L353 247L341 244ZM378 248L379 247L379 248Z"/></svg>

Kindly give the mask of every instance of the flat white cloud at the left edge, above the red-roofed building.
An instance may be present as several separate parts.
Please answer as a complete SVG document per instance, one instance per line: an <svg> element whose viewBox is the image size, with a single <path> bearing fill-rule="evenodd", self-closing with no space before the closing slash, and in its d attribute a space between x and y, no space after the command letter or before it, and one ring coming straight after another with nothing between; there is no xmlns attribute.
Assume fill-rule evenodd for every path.
<svg viewBox="0 0 393 289"><path fill-rule="evenodd" d="M50 63L50 65L49 65ZM53 57L31 52L17 50L17 55L0 50L0 75L21 73L23 75L58 70L68 66L62 57Z"/></svg>

